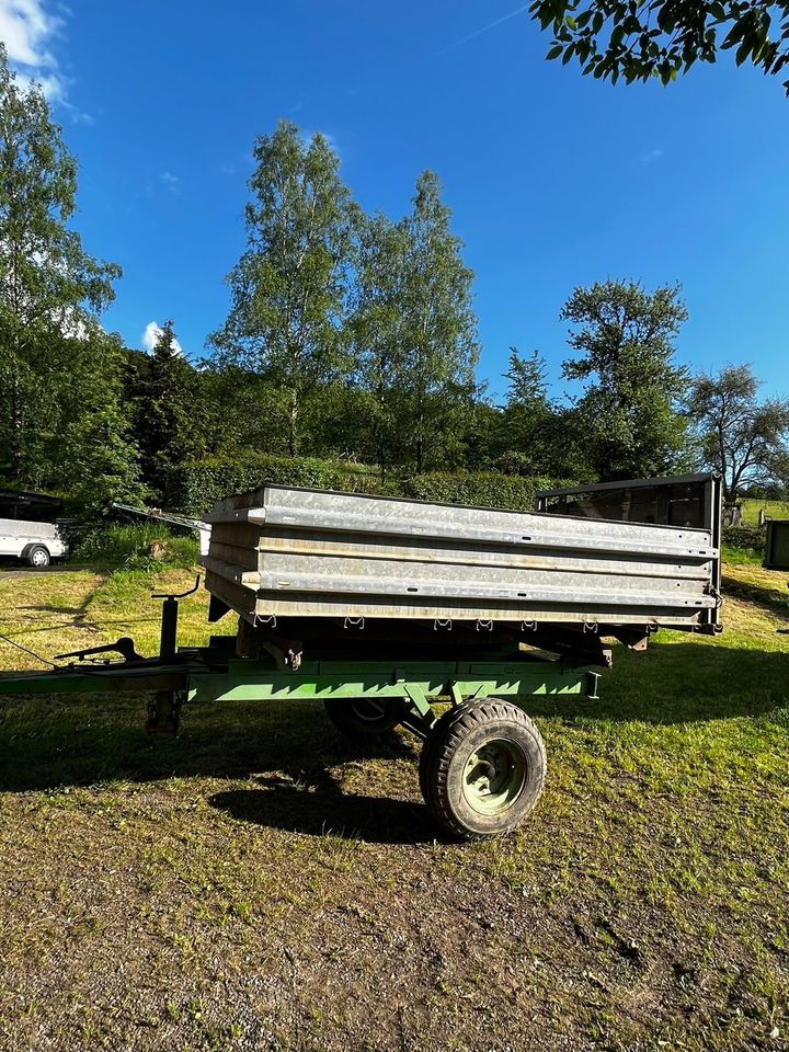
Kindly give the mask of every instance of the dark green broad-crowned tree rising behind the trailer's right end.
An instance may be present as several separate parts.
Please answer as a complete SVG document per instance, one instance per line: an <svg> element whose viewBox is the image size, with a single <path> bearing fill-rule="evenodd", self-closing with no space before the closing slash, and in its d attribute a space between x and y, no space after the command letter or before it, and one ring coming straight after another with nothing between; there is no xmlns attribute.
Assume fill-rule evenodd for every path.
<svg viewBox="0 0 789 1052"><path fill-rule="evenodd" d="M561 318L575 358L567 379L585 380L576 404L603 480L660 474L681 466L686 424L679 402L687 370L674 340L687 319L678 285L648 293L634 282L576 288Z"/></svg>

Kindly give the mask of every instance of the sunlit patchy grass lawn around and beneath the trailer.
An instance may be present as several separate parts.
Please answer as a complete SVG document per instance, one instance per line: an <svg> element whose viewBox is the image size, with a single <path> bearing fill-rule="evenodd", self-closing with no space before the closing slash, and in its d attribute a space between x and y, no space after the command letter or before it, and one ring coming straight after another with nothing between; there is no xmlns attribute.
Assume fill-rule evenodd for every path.
<svg viewBox="0 0 789 1052"><path fill-rule="evenodd" d="M546 793L493 843L436 839L408 732L350 744L315 704L195 707L174 741L141 697L3 700L0 1049L786 1049L786 578L730 565L723 636L530 700ZM0 632L153 653L148 593L188 582L0 572Z"/></svg>

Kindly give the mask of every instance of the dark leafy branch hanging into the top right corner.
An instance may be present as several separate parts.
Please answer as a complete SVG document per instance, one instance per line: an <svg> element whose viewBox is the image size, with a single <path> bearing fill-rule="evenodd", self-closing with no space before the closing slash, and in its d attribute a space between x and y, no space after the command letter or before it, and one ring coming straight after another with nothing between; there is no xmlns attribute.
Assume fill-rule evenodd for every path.
<svg viewBox="0 0 789 1052"><path fill-rule="evenodd" d="M535 0L529 10L553 33L549 59L575 59L614 82L667 84L729 49L737 66L769 75L789 64L787 0ZM789 80L784 87L789 94Z"/></svg>

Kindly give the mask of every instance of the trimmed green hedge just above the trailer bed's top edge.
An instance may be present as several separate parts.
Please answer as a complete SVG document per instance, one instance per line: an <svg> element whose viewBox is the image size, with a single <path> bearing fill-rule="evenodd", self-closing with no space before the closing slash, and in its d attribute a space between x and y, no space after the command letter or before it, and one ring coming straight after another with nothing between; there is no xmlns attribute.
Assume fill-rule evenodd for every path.
<svg viewBox="0 0 789 1052"><path fill-rule="evenodd" d="M435 471L381 484L374 468L313 457L258 456L242 461L207 460L175 469L169 480L168 506L203 515L224 496L266 483L304 485L352 493L382 493L443 504L476 504L530 511L537 489L570 484L496 471Z"/></svg>

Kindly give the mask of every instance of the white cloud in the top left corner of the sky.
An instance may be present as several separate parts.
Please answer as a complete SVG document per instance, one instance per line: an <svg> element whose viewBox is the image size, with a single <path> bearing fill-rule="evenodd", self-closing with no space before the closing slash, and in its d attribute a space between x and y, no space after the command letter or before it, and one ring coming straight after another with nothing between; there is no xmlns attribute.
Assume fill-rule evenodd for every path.
<svg viewBox="0 0 789 1052"><path fill-rule="evenodd" d="M62 19L45 10L44 0L0 0L0 39L22 87L37 81L52 102L61 101L66 82L50 50Z"/></svg>

